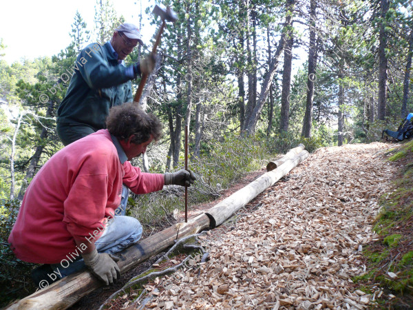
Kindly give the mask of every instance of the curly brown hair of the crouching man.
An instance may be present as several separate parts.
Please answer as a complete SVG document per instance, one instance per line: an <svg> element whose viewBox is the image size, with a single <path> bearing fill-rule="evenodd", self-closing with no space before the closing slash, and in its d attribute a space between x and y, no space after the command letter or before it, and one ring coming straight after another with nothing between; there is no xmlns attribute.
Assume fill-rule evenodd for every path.
<svg viewBox="0 0 413 310"><path fill-rule="evenodd" d="M112 107L106 118L106 127L110 134L119 140L127 141L134 134L131 143L135 144L149 141L151 135L155 141L162 136L159 119L153 114L143 112L139 105L133 102Z"/></svg>

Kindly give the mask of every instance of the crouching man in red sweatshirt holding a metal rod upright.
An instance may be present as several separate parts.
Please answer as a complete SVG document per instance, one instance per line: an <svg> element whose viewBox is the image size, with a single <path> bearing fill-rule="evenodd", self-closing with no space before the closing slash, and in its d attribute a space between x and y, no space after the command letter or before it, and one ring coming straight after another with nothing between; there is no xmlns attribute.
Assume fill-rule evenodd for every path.
<svg viewBox="0 0 413 310"><path fill-rule="evenodd" d="M8 238L17 258L48 264L42 266L38 282L57 280L56 275L67 276L85 265L106 285L118 278L117 260L110 254L142 235L136 218L119 215L122 183L145 194L195 180L191 171L149 174L129 163L161 132L158 118L138 105L118 105L109 112L107 130L71 143L41 167Z"/></svg>

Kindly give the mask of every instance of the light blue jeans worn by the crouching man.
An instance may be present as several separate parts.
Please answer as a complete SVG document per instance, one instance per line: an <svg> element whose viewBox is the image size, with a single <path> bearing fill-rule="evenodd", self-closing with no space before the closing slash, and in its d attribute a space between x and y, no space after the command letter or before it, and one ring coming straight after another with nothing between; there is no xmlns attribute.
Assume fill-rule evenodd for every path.
<svg viewBox="0 0 413 310"><path fill-rule="evenodd" d="M119 209L116 209L116 211ZM99 253L114 254L138 242L141 236L142 225L140 225L136 218L131 216L115 216L109 220L102 236L96 240L95 247ZM51 266L55 273L63 278L85 267L85 262L83 262L83 259L76 260L66 268L61 264L53 264Z"/></svg>

